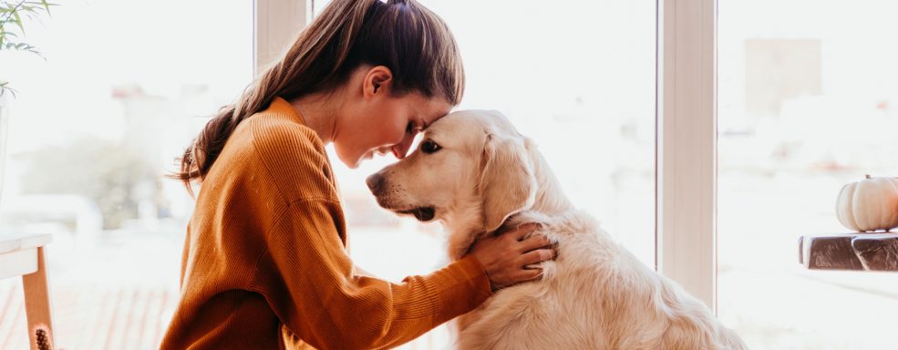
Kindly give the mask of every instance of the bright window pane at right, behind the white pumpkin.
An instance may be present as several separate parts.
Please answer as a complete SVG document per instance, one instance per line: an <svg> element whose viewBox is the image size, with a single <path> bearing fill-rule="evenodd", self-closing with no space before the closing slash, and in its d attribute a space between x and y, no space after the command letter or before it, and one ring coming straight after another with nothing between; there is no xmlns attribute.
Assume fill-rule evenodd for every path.
<svg viewBox="0 0 898 350"><path fill-rule="evenodd" d="M898 175L898 2L719 2L718 307L758 349L894 348L893 273L805 270L841 186Z"/></svg>

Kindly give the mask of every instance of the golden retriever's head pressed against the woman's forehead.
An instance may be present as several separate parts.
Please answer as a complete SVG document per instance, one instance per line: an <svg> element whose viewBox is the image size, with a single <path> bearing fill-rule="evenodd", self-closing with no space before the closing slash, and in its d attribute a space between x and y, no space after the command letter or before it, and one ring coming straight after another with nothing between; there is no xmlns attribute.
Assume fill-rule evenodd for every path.
<svg viewBox="0 0 898 350"><path fill-rule="evenodd" d="M533 172L528 140L507 118L463 110L434 122L418 149L366 182L387 210L419 221L479 221L466 225L491 232L532 206Z"/></svg>

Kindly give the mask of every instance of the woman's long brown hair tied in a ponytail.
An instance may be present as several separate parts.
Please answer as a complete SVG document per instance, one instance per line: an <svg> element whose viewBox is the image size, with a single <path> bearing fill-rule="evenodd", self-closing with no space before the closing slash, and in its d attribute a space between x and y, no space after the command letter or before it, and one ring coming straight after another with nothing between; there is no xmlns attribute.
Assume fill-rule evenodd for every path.
<svg viewBox="0 0 898 350"><path fill-rule="evenodd" d="M232 105L210 120L181 157L182 180L201 183L237 125L287 100L337 88L361 65L385 66L397 95L416 91L458 105L464 68L449 27L414 0L334 0Z"/></svg>

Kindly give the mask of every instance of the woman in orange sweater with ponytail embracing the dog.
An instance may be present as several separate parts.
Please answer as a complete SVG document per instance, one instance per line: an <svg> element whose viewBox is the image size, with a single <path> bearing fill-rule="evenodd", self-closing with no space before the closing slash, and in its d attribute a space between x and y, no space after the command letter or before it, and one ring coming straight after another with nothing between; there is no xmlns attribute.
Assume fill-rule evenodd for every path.
<svg viewBox="0 0 898 350"><path fill-rule="evenodd" d="M329 5L184 152L179 178L202 188L162 348L391 347L538 278L522 266L554 252L524 239L529 227L399 284L356 273L346 254L325 145L352 168L375 153L401 159L463 88L454 39L427 8Z"/></svg>

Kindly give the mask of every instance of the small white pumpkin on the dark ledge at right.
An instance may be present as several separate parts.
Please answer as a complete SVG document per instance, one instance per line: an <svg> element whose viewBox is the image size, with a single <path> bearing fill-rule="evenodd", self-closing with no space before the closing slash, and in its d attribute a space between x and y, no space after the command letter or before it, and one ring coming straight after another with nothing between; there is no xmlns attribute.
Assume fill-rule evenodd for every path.
<svg viewBox="0 0 898 350"><path fill-rule="evenodd" d="M889 231L898 227L898 178L872 178L841 188L836 216L858 232Z"/></svg>

